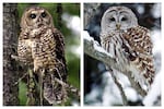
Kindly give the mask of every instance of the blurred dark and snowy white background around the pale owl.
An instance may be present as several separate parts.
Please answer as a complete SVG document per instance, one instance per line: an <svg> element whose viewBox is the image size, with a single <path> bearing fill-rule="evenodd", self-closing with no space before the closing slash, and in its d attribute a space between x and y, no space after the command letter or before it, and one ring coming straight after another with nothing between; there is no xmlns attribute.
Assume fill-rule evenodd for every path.
<svg viewBox="0 0 164 109"><path fill-rule="evenodd" d="M130 8L138 17L139 25L151 31L153 41L153 56L156 73L161 71L161 3L101 3L97 9L92 9L90 3L84 3L84 7L91 7L94 10L93 17L84 28L90 36L98 43L101 32L101 20L104 12L109 7L124 5ZM89 10L89 9L87 9ZM85 12L84 12L85 13ZM101 44L101 43L99 43ZM115 83L113 82L109 72L106 70L103 62L84 55L84 104L89 106L115 106L121 105L121 97ZM127 85L125 76L121 75L121 83L130 106L141 106L142 98L134 89ZM151 101L151 99L150 99Z"/></svg>

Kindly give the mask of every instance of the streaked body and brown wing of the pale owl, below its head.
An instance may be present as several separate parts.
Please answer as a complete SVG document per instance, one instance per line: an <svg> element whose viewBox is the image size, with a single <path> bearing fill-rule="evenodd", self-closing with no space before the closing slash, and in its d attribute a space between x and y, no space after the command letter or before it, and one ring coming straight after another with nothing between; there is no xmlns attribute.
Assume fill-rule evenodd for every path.
<svg viewBox="0 0 164 109"><path fill-rule="evenodd" d="M152 83L154 68L148 29L138 26L125 32L102 33L101 40L103 48L113 55L119 68L131 71L140 85Z"/></svg>

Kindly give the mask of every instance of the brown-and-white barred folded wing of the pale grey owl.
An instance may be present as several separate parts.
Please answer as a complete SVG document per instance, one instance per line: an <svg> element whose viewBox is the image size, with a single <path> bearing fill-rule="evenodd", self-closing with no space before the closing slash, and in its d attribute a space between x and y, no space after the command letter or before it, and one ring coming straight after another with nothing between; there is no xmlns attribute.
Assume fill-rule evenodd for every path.
<svg viewBox="0 0 164 109"><path fill-rule="evenodd" d="M125 48L129 52L128 59L142 72L142 75L151 84L155 71L149 29L142 26L132 27L122 37L127 41Z"/></svg>

